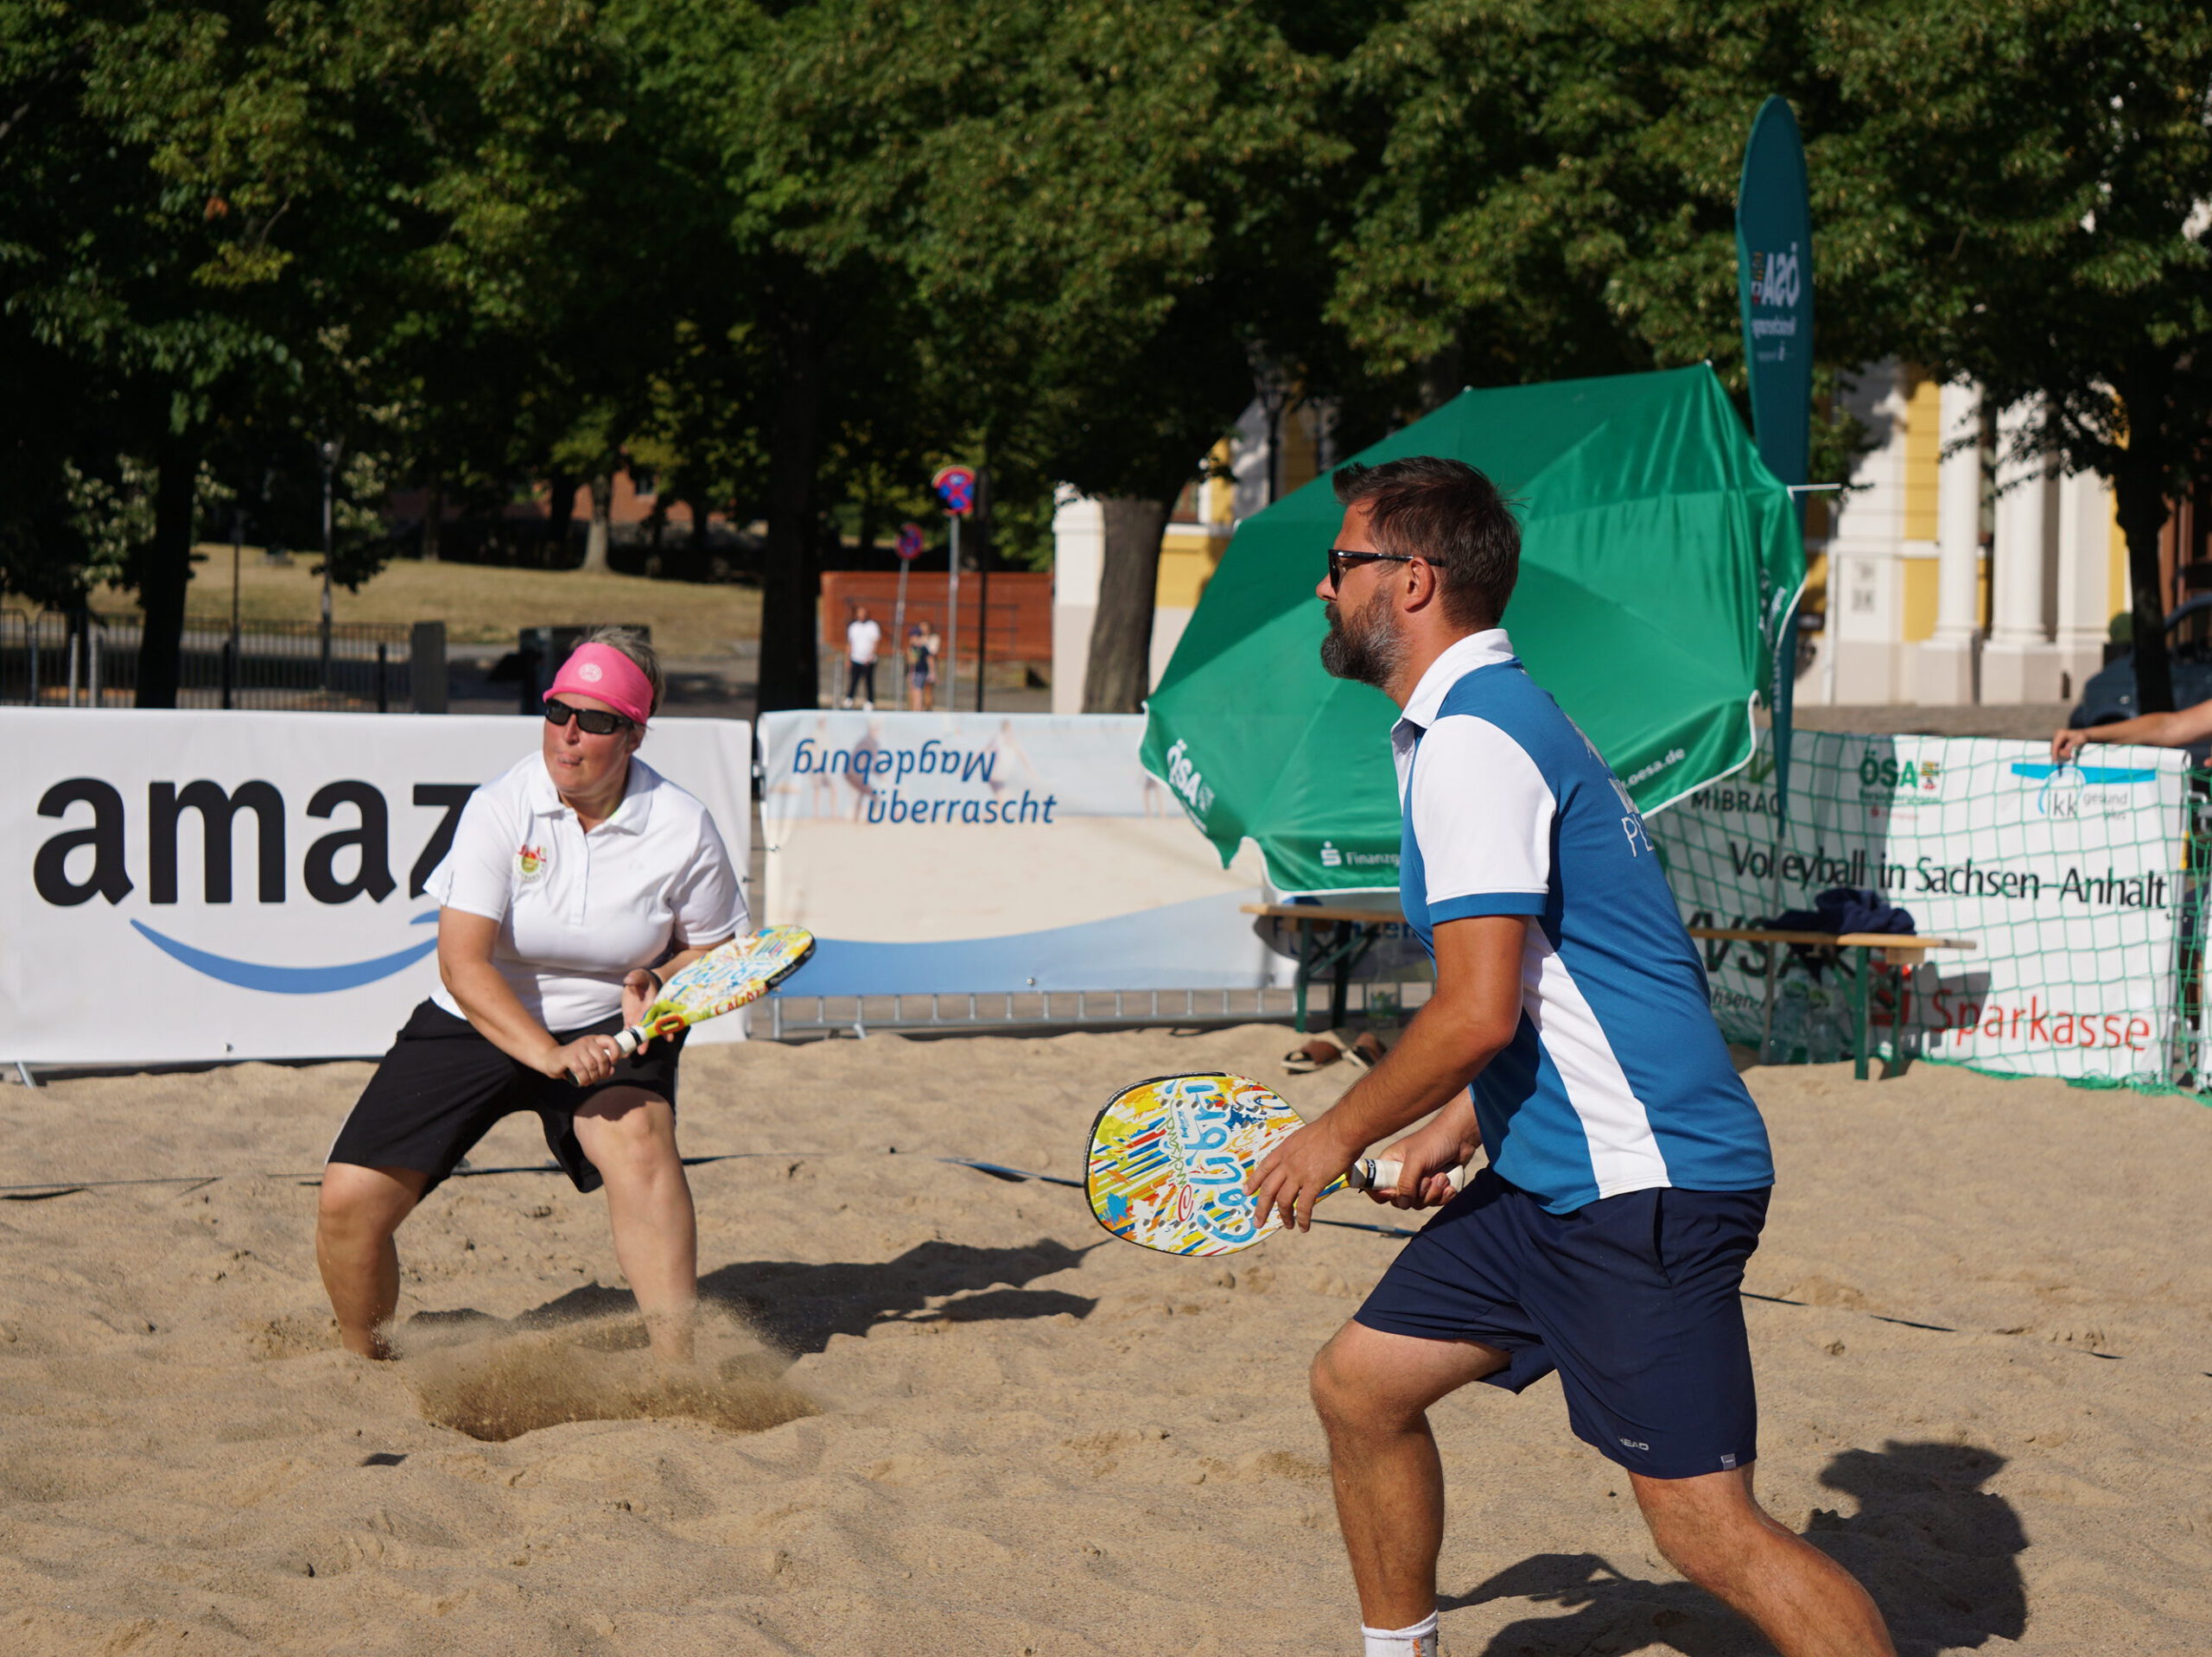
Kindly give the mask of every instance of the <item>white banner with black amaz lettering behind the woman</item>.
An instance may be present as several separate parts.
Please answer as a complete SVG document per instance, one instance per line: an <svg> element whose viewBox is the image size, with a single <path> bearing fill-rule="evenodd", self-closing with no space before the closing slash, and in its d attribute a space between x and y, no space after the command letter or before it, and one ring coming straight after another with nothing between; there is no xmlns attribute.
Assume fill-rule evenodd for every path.
<svg viewBox="0 0 2212 1657"><path fill-rule="evenodd" d="M0 1060L383 1053L436 984L460 807L531 752L535 719L0 710ZM743 872L750 728L670 719L641 757Z"/></svg>

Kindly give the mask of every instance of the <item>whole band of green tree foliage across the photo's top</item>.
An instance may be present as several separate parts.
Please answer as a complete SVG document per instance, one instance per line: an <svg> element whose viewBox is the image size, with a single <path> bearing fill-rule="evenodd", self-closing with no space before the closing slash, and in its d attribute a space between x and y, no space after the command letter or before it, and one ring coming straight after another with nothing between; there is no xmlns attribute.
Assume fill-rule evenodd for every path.
<svg viewBox="0 0 2212 1657"><path fill-rule="evenodd" d="M1130 708L1168 502L1254 383L1347 442L1467 383L1741 387L1781 91L1823 383L1909 354L2044 398L2141 611L2208 425L2205 35L2177 0L0 0L0 566L69 604L124 535L173 639L210 478L314 544L325 442L434 507L551 480L557 522L650 467L768 520L761 706L812 706L838 524L969 460L1031 542L1055 484L1106 502L1088 704Z"/></svg>

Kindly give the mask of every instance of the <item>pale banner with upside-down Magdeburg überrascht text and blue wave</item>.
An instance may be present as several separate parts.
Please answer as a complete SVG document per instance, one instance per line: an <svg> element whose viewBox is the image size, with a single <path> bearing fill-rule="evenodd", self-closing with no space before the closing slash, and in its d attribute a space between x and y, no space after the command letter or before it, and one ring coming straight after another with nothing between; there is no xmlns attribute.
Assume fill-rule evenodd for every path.
<svg viewBox="0 0 2212 1657"><path fill-rule="evenodd" d="M1137 715L765 715L765 918L814 934L792 993L1265 982L1259 856L1221 867L1141 737Z"/></svg>

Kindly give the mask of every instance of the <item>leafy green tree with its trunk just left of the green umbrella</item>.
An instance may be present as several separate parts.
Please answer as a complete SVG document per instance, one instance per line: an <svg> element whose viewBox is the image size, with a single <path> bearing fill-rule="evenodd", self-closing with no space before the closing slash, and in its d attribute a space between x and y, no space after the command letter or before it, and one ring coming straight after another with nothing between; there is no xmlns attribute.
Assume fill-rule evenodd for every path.
<svg viewBox="0 0 2212 1657"><path fill-rule="evenodd" d="M1135 708L1168 504L1250 400L1254 343L1316 332L1323 64L1157 0L816 15L872 153L814 237L898 272L1004 493L1106 498L1086 706Z"/></svg>

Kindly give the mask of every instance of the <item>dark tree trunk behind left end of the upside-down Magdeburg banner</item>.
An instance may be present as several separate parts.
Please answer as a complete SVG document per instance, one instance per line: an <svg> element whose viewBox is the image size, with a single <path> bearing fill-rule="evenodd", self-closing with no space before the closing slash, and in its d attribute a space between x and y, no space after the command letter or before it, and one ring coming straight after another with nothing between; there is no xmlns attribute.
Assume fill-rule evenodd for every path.
<svg viewBox="0 0 2212 1657"><path fill-rule="evenodd" d="M812 323L783 336L783 374L768 429L768 553L761 571L759 710L821 701L816 604L821 564L814 489L823 447L823 345Z"/></svg>

